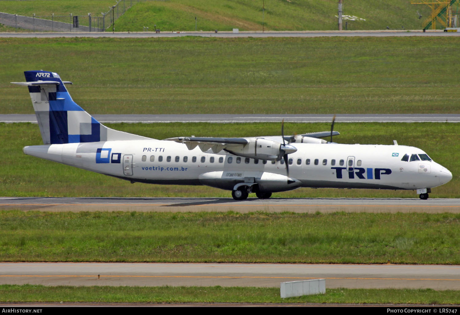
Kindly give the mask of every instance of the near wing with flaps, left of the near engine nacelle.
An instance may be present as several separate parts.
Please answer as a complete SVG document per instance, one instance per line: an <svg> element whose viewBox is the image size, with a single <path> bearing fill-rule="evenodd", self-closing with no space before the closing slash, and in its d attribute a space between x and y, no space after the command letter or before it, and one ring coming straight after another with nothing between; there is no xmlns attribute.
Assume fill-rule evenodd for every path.
<svg viewBox="0 0 460 315"><path fill-rule="evenodd" d="M244 138L213 138L213 137L177 137L164 140L176 141L184 143L189 150L200 147L201 151L206 152L211 149L214 153L218 153L227 147L244 147L249 141Z"/></svg>

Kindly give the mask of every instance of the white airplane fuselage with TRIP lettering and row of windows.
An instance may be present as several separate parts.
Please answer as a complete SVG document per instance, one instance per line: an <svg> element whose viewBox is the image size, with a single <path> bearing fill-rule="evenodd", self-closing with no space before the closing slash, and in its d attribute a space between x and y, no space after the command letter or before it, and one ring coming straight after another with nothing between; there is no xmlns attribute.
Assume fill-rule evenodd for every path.
<svg viewBox="0 0 460 315"><path fill-rule="evenodd" d="M283 160L239 157L224 150L188 150L165 140L101 141L26 146L24 153L59 163L152 184L208 185L232 190L256 183L260 191L298 187L420 189L442 185L452 174L429 160L402 161L424 154L412 146L292 143L289 177ZM348 165L350 163L350 165Z"/></svg>

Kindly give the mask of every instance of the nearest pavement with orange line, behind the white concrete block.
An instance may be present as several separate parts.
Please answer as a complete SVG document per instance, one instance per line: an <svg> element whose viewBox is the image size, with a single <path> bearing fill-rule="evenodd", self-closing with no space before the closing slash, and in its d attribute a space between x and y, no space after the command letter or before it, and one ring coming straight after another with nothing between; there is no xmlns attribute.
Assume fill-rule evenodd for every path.
<svg viewBox="0 0 460 315"><path fill-rule="evenodd" d="M259 286L326 279L326 288L459 290L460 266L252 263L1 262L0 284Z"/></svg>

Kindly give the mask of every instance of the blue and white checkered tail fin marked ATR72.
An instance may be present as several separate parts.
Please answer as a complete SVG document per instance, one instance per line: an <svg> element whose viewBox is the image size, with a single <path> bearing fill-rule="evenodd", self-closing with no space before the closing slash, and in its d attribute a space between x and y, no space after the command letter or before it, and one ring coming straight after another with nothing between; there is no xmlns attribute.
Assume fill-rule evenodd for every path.
<svg viewBox="0 0 460 315"><path fill-rule="evenodd" d="M29 87L30 98L44 144L146 140L143 136L105 127L70 97L55 72L24 71L26 82L11 82Z"/></svg>

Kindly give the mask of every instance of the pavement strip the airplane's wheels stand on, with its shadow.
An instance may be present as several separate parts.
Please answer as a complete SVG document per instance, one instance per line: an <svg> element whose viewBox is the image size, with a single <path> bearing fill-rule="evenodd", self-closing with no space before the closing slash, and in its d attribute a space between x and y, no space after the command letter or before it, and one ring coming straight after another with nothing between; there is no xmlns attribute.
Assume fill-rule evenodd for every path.
<svg viewBox="0 0 460 315"><path fill-rule="evenodd" d="M460 213L454 198L40 198L1 197L0 210L159 212L426 212Z"/></svg>

